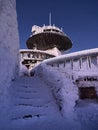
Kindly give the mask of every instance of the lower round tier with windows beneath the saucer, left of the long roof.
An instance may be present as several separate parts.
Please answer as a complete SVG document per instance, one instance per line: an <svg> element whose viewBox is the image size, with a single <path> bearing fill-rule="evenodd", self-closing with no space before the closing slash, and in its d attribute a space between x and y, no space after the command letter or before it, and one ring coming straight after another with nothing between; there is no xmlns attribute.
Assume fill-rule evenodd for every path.
<svg viewBox="0 0 98 130"><path fill-rule="evenodd" d="M47 51L33 50L33 49L21 49L20 58L23 65L28 69L31 69L41 63L43 60L55 57Z"/></svg>

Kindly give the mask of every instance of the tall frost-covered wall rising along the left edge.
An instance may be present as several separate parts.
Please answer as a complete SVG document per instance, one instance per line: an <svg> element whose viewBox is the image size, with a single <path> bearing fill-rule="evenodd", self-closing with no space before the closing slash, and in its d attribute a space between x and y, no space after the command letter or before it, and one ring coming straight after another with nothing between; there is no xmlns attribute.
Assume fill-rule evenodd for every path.
<svg viewBox="0 0 98 130"><path fill-rule="evenodd" d="M18 74L19 35L16 0L0 0L0 95Z"/></svg>

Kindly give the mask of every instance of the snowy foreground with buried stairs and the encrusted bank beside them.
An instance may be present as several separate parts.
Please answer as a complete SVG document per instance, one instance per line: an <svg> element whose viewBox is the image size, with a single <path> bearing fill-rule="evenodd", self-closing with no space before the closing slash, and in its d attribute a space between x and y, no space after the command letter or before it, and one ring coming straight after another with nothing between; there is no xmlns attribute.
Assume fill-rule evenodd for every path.
<svg viewBox="0 0 98 130"><path fill-rule="evenodd" d="M6 100L8 107L1 113L0 129L98 129L97 100L80 100L77 86L67 73L46 64L33 71L32 77L22 73L13 80Z"/></svg>

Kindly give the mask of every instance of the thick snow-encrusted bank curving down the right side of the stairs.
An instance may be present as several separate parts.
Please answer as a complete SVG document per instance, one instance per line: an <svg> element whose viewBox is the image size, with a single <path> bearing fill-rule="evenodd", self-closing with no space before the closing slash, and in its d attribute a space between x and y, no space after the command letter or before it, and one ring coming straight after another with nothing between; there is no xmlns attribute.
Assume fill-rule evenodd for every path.
<svg viewBox="0 0 98 130"><path fill-rule="evenodd" d="M61 115L68 120L74 118L73 111L79 96L78 88L73 81L66 77L66 74L44 63L36 68L35 74L42 78L51 89Z"/></svg>

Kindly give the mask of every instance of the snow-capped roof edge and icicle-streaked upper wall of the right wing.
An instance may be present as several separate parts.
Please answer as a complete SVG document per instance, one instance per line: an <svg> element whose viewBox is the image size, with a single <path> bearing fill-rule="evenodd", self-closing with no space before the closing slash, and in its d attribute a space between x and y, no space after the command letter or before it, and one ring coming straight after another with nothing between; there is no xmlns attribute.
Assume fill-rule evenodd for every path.
<svg viewBox="0 0 98 130"><path fill-rule="evenodd" d="M62 55L44 61L53 68L59 68L70 75L98 74L98 48Z"/></svg>

